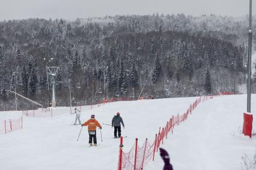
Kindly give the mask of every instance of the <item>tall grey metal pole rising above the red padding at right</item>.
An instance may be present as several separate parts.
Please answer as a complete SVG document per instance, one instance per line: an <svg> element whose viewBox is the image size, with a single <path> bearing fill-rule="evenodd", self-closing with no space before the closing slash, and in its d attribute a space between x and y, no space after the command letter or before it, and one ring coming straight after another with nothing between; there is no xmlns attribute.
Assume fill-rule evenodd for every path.
<svg viewBox="0 0 256 170"><path fill-rule="evenodd" d="M247 112L251 113L251 60L252 60L252 0L249 0L249 47L248 47L248 83Z"/></svg>

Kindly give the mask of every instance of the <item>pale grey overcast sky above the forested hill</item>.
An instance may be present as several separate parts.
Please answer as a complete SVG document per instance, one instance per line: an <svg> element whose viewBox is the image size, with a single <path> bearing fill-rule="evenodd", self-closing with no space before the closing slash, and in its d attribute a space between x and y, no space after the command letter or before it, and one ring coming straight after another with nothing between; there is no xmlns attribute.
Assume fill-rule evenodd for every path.
<svg viewBox="0 0 256 170"><path fill-rule="evenodd" d="M256 1L252 1L252 14ZM0 0L0 20L76 19L116 14L217 14L245 16L249 0Z"/></svg>

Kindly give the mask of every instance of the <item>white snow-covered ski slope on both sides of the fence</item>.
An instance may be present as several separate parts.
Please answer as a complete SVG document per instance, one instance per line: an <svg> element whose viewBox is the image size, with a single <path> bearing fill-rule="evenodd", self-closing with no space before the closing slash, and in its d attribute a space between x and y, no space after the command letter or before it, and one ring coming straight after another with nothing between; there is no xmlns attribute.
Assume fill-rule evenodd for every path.
<svg viewBox="0 0 256 170"><path fill-rule="evenodd" d="M178 113L183 114L196 98L171 98L144 101L113 102L93 110L82 110L82 121L91 114L101 123L111 124L118 111L123 117L124 151L129 151L139 138L139 145L148 138L154 141L159 126ZM252 95L252 113L256 113L256 95ZM168 135L164 144L174 169L241 169L244 153L254 156L256 139L241 134L246 95L216 97L202 102L189 115L186 122ZM88 147L87 128L72 126L75 115L69 108L54 108L59 116L36 118L23 117L23 129L0 135L0 169L117 169L118 145L114 129L102 125L102 137L97 130L99 146ZM0 120L22 116L20 112L2 112ZM255 128L255 125L254 125ZM144 169L162 169L159 153L155 161Z"/></svg>

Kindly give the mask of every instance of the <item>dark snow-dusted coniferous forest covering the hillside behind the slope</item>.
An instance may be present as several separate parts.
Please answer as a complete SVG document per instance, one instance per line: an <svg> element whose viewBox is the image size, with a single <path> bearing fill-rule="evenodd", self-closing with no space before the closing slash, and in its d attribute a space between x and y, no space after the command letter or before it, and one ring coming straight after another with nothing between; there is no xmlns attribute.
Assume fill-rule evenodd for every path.
<svg viewBox="0 0 256 170"><path fill-rule="evenodd" d="M15 108L8 90L47 107L46 66L59 67L58 106L69 106L70 91L83 105L105 93L136 99L142 89L141 96L154 98L242 92L247 25L246 18L184 14L0 22L0 110ZM17 104L32 106L22 98Z"/></svg>

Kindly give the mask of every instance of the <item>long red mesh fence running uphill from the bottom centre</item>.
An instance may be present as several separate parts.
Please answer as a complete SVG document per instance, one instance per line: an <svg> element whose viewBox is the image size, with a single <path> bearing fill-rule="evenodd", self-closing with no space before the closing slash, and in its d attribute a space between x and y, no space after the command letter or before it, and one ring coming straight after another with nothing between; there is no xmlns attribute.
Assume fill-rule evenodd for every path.
<svg viewBox="0 0 256 170"><path fill-rule="evenodd" d="M219 95L216 95L219 96ZM192 114L192 111L195 110L200 102L207 101L212 99L215 96L204 96L198 98L193 104L190 104L189 108L187 108L186 112L181 116L178 114L177 116L172 116L171 119L168 120L164 128L159 128L158 135L156 134L156 138L153 144L150 145L148 140L146 139L142 147L138 147L138 139L136 138L135 144L130 149L128 153L123 152L123 138L121 138L121 146L120 154L118 160L118 170L139 170L143 169L145 165L152 159L154 160L154 154L158 151L158 148L162 142L163 138L167 138L169 132L173 132L174 126L179 125L179 123L187 120L189 114Z"/></svg>

